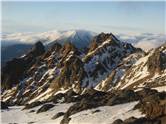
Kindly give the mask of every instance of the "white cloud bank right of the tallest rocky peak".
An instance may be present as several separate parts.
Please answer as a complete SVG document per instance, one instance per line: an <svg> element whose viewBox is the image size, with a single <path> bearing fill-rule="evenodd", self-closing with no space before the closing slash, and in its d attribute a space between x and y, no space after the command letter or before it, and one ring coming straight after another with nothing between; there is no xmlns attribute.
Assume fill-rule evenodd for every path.
<svg viewBox="0 0 166 124"><path fill-rule="evenodd" d="M166 43L165 34L137 33L137 34L117 34L117 38L133 44L135 47L148 51Z"/></svg>

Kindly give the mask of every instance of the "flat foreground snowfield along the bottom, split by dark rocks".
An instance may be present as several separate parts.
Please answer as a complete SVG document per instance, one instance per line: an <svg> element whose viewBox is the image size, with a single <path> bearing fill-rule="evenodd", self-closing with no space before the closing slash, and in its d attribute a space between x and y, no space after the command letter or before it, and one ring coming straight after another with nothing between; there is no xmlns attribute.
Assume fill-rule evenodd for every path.
<svg viewBox="0 0 166 124"><path fill-rule="evenodd" d="M132 110L132 108L138 102L131 102L126 104L120 104L115 106L103 106L95 109L89 109L71 116L69 124L110 124L116 119L127 119L131 116L143 117L138 110ZM2 111L2 123L19 123L27 124L28 122L34 122L35 124L47 123L47 124L59 124L63 117L59 117L55 120L51 118L58 112L65 112L72 105L70 104L57 104L51 110L43 113L29 113L30 110L37 110L39 107L35 107L30 110L21 110L23 106L11 107L8 111ZM95 110L100 110L95 112Z"/></svg>

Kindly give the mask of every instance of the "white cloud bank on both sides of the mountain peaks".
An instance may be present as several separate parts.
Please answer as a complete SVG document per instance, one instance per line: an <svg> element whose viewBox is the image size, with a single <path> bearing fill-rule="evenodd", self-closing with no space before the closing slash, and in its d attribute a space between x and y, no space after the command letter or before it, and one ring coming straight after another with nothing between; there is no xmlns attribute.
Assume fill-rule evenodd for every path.
<svg viewBox="0 0 166 124"><path fill-rule="evenodd" d="M37 40L54 41L58 38L69 37L74 35L74 30L68 31L48 31L41 33L14 33L2 35L2 40L6 43L10 42L21 42L21 43L34 43ZM80 32L82 33L82 32ZM79 35L80 35L79 33ZM127 34L116 34L118 39L124 42L129 42L135 47L142 48L145 51L151 48L156 48L166 42L165 34L154 34L154 33L127 33Z"/></svg>

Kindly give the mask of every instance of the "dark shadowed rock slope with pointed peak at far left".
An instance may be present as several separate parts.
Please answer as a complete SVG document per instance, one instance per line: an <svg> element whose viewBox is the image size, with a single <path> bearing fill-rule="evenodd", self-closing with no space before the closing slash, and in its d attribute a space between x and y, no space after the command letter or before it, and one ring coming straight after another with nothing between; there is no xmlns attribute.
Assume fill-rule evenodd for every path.
<svg viewBox="0 0 166 124"><path fill-rule="evenodd" d="M45 52L41 42L37 42L31 51L21 58L14 58L2 69L2 88L9 89L24 78L24 72L36 61L36 57Z"/></svg>

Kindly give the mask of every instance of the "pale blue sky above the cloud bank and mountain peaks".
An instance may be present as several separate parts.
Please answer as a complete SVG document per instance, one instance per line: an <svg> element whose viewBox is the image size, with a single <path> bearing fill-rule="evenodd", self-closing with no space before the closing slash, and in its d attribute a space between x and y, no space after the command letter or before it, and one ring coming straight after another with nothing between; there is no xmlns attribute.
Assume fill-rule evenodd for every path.
<svg viewBox="0 0 166 124"><path fill-rule="evenodd" d="M3 32L165 33L164 2L3 2Z"/></svg>

